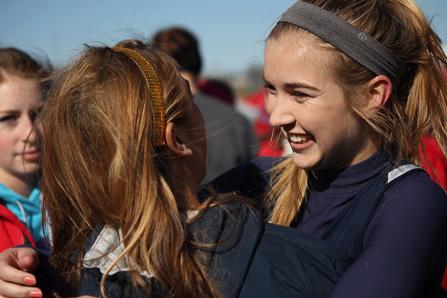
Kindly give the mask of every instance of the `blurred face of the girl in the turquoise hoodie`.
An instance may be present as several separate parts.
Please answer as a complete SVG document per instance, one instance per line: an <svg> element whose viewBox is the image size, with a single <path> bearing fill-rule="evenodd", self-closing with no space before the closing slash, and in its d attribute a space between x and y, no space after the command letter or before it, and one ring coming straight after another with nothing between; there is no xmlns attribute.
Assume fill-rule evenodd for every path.
<svg viewBox="0 0 447 298"><path fill-rule="evenodd" d="M41 90L31 79L4 78L0 83L0 181L12 176L29 178L41 168L39 136L30 134L35 111L42 105Z"/></svg>

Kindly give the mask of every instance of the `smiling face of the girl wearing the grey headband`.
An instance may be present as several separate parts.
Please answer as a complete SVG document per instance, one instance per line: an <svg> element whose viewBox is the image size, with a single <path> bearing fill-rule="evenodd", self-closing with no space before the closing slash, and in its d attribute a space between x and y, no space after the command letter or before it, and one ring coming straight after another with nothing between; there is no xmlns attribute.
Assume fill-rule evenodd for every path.
<svg viewBox="0 0 447 298"><path fill-rule="evenodd" d="M270 124L281 128L303 169L343 168L378 148L329 77L329 51L305 40L270 40L264 56Z"/></svg>

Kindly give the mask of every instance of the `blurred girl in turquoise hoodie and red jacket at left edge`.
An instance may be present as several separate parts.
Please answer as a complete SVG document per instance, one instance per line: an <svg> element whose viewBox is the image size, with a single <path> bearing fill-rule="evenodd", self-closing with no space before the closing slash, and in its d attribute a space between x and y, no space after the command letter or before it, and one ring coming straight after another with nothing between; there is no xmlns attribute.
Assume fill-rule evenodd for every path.
<svg viewBox="0 0 447 298"><path fill-rule="evenodd" d="M28 54L0 49L0 251L24 243L46 246L37 188L39 132L30 132L45 91L38 79L48 74Z"/></svg>

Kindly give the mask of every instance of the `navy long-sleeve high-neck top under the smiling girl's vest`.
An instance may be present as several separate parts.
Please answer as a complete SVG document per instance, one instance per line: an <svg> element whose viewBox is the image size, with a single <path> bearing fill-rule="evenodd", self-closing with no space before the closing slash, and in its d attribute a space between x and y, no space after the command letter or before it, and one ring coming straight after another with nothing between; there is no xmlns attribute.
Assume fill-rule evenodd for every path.
<svg viewBox="0 0 447 298"><path fill-rule="evenodd" d="M257 198L274 158L258 158L215 180L219 191L239 190ZM380 151L353 166L314 172L299 230L320 236L326 226L390 161ZM261 191L262 189L262 191ZM354 243L353 243L354 245ZM378 202L363 252L345 272L330 298L436 297L446 269L447 196L424 172L391 185Z"/></svg>

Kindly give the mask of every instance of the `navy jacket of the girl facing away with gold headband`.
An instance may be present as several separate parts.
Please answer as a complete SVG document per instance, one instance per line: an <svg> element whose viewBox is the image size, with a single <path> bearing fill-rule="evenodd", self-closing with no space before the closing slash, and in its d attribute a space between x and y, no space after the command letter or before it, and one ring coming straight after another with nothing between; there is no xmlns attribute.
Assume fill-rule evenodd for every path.
<svg viewBox="0 0 447 298"><path fill-rule="evenodd" d="M201 243L219 243L200 249L224 298L327 297L353 262L322 239L291 227L263 224L259 211L238 202L210 208L192 229ZM87 244L86 257L95 257L95 251L101 250L104 243L105 247L114 247L113 232L107 238L104 231L99 228L94 232ZM118 247L118 251L95 261L84 259L86 268L78 295L100 296L102 272L119 250ZM42 265L48 256L40 257ZM127 264L119 266L121 269L106 280L107 297L149 297L143 290L132 287ZM149 282L150 273L143 274ZM155 283L151 295L165 297L166 293Z"/></svg>

